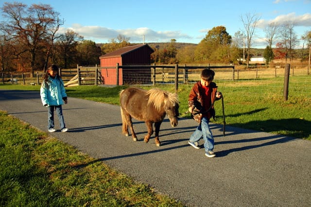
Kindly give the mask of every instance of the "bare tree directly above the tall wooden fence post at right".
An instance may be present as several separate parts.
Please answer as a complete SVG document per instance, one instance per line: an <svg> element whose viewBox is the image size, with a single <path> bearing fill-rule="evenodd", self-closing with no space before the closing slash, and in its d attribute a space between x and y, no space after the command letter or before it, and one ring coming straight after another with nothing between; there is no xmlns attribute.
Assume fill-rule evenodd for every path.
<svg viewBox="0 0 311 207"><path fill-rule="evenodd" d="M294 47L298 43L297 35L294 32L294 23L286 22L281 26L280 29L281 42L285 46L285 60L290 58L290 62L293 60Z"/></svg>

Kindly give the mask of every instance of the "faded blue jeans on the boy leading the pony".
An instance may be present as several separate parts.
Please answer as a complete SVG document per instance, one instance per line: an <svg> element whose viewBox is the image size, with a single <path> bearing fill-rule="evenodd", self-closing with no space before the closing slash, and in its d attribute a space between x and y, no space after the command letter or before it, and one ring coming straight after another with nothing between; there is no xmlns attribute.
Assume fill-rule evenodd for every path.
<svg viewBox="0 0 311 207"><path fill-rule="evenodd" d="M203 137L206 152L213 151L214 149L214 138L209 129L208 122L207 118L203 117L201 124L195 129L189 140L190 142L197 142Z"/></svg>

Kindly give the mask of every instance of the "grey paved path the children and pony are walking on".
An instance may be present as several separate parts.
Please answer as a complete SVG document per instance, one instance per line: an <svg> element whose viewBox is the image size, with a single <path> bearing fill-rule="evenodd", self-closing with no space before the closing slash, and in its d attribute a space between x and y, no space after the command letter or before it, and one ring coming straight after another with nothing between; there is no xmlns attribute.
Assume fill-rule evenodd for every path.
<svg viewBox="0 0 311 207"><path fill-rule="evenodd" d="M187 206L311 206L311 141L211 124L216 157L188 145L196 122L161 125L161 147L143 142L146 128L134 120L139 141L121 135L120 107L69 97L69 128L52 136L109 166L148 183ZM47 130L47 110L39 92L0 90L0 110ZM55 114L56 116L56 114ZM289 123L290 124L290 123Z"/></svg>

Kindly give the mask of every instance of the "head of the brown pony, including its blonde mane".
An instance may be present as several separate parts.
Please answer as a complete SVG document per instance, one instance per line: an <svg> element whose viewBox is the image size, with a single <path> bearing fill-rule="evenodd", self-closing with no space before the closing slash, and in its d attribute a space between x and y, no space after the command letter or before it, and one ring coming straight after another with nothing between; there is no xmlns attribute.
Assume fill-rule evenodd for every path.
<svg viewBox="0 0 311 207"><path fill-rule="evenodd" d="M170 119L171 126L177 126L179 116L178 95L157 88L150 89L147 93L149 94L148 104L153 104L158 111L164 110Z"/></svg>

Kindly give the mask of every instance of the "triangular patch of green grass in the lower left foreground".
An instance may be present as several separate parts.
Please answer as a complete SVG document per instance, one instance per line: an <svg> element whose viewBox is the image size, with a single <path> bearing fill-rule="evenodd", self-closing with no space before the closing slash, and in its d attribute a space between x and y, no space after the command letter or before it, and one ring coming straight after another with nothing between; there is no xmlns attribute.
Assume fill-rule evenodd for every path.
<svg viewBox="0 0 311 207"><path fill-rule="evenodd" d="M0 206L183 206L0 111Z"/></svg>

